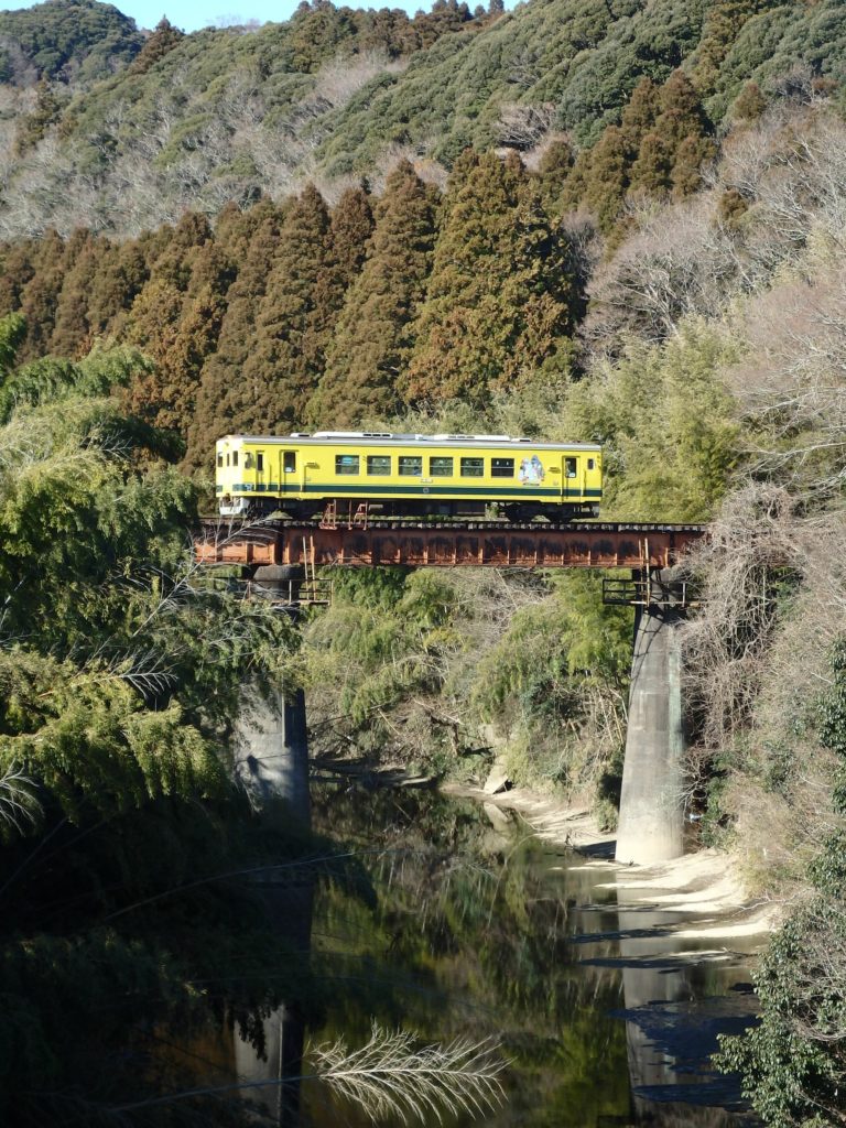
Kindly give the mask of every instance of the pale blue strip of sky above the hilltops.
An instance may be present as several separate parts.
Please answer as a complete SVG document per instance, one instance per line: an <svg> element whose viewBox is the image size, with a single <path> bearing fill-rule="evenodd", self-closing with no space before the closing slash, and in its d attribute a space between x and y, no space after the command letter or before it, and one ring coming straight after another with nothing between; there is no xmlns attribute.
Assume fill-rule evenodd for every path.
<svg viewBox="0 0 846 1128"><path fill-rule="evenodd" d="M111 0L125 16L132 16L139 27L156 27L162 16L184 32L218 24L246 24L257 19L264 24L272 19L289 19L299 0ZM336 0L341 5L342 0ZM351 8L404 8L413 14L418 8L429 10L431 0L343 0ZM32 8L33 0L0 0L0 8Z"/></svg>

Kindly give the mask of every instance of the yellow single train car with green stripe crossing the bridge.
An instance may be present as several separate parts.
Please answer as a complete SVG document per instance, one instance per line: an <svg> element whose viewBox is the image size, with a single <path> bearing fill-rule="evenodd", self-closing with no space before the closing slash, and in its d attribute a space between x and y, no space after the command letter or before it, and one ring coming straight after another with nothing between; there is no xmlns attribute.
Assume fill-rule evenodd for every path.
<svg viewBox="0 0 846 1128"><path fill-rule="evenodd" d="M597 517L602 451L499 434L228 434L217 495L222 517Z"/></svg>

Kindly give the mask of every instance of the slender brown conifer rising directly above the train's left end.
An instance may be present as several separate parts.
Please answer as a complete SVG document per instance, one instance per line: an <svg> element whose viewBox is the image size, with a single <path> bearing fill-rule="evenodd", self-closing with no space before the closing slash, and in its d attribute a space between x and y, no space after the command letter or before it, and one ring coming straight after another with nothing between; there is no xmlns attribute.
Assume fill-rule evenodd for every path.
<svg viewBox="0 0 846 1128"><path fill-rule="evenodd" d="M301 423L323 376L342 297L328 209L317 188L308 185L280 232L255 342L239 381L240 403L233 411L239 429L266 432Z"/></svg>

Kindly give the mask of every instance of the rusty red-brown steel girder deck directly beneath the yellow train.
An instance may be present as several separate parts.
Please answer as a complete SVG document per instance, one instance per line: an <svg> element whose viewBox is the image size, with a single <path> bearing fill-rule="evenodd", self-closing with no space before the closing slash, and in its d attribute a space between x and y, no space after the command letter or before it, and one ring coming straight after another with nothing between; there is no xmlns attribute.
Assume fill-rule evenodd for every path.
<svg viewBox="0 0 846 1128"><path fill-rule="evenodd" d="M669 567L705 534L702 525L432 525L397 521L368 528L319 522L204 521L201 564L417 567Z"/></svg>

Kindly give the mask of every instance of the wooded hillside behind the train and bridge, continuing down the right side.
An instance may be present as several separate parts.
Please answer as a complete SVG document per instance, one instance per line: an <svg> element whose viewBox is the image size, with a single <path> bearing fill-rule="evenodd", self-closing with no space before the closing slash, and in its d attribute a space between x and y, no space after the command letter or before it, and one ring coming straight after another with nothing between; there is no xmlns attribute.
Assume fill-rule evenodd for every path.
<svg viewBox="0 0 846 1128"><path fill-rule="evenodd" d="M688 802L800 904L725 1060L768 1122L841 1123L846 8L316 2L141 36L50 0L0 46L0 311L35 363L3 417L94 380L201 483L228 431L583 439L609 518L713 521ZM132 362L100 387L102 355ZM346 576L296 676L318 750L479 777L495 743L610 825L629 626L579 576Z"/></svg>

